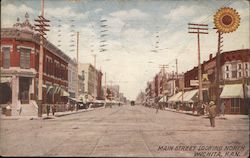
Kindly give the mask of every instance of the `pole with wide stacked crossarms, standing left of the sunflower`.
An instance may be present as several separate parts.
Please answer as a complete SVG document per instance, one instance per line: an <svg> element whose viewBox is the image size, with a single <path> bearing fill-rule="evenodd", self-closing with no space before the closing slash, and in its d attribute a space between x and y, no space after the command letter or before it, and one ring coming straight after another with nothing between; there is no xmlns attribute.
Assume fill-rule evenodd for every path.
<svg viewBox="0 0 250 158"><path fill-rule="evenodd" d="M188 33L195 33L198 37L198 79L199 79L199 102L203 101L202 96L202 79L201 79L201 63L200 63L200 34L208 34L207 24L192 24L188 23L190 30Z"/></svg>

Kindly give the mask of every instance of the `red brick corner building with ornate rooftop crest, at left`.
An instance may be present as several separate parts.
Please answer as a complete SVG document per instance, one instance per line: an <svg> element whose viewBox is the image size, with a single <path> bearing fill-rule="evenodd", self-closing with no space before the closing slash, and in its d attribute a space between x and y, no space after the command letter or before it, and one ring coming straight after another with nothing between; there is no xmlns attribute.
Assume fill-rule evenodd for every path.
<svg viewBox="0 0 250 158"><path fill-rule="evenodd" d="M13 111L18 102L37 106L40 37L28 14L25 18L23 23L18 19L12 28L1 28L1 103L9 102ZM60 102L67 91L69 59L44 40L43 103Z"/></svg>

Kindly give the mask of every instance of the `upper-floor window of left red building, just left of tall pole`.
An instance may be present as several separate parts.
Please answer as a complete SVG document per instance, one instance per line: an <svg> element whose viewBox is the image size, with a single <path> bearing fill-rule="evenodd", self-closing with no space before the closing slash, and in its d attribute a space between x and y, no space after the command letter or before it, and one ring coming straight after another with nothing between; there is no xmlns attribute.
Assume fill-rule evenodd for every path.
<svg viewBox="0 0 250 158"><path fill-rule="evenodd" d="M20 48L20 67L22 69L30 68L30 53L31 49Z"/></svg>

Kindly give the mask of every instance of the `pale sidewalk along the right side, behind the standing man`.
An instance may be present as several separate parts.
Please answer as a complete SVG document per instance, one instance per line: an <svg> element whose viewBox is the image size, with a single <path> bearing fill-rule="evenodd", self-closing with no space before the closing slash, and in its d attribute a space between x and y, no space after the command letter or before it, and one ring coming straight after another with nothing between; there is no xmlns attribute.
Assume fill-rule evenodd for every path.
<svg viewBox="0 0 250 158"><path fill-rule="evenodd" d="M165 110L176 112L176 113L183 113L186 115L200 116L202 118L208 118L208 115L198 115L197 112L193 113L192 111L182 111L182 110L177 111L176 109L170 109L170 108L165 108ZM223 119L223 120L235 120L235 119L237 120L237 119L249 119L249 116L248 115L225 114L224 116L223 115L216 116L216 118Z"/></svg>

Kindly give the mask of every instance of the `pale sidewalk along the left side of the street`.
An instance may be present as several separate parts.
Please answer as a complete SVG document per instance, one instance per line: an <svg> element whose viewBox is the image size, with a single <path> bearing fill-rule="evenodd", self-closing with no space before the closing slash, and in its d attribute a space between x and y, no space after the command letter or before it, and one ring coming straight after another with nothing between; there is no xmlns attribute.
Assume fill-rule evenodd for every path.
<svg viewBox="0 0 250 158"><path fill-rule="evenodd" d="M67 115L72 115L72 114L77 114L77 113L82 113L82 112L88 112L88 111L102 109L102 108L104 108L104 107L81 109L78 111L74 110L74 111L56 112L54 116L52 115L52 113L50 113L49 116L47 116L47 114L43 114L42 117L38 117L38 116L5 116L5 115L0 114L0 119L2 119L2 120L46 120L46 119L55 119L56 117L62 117L62 116L67 116Z"/></svg>

